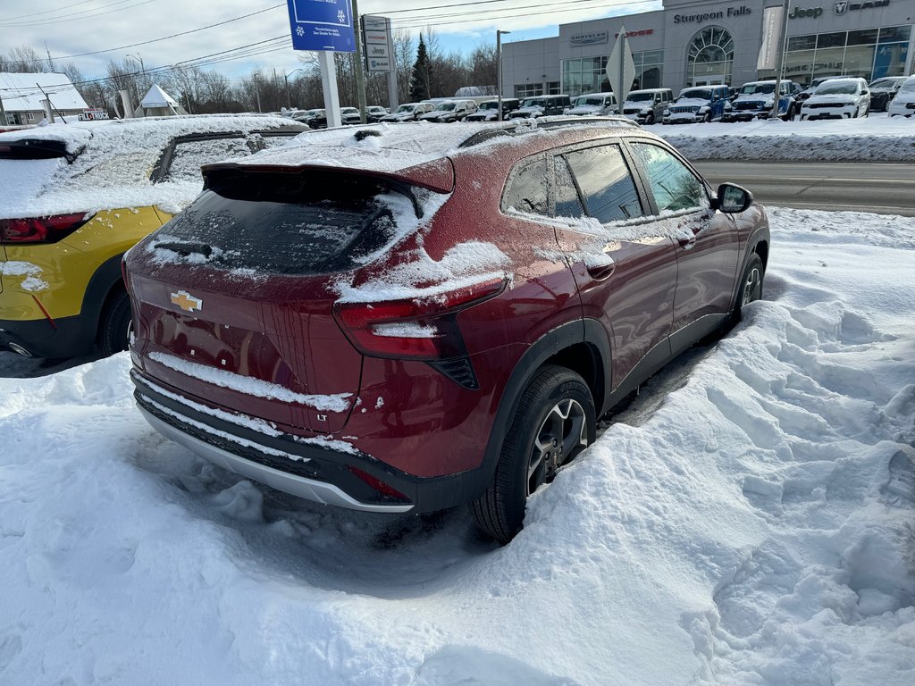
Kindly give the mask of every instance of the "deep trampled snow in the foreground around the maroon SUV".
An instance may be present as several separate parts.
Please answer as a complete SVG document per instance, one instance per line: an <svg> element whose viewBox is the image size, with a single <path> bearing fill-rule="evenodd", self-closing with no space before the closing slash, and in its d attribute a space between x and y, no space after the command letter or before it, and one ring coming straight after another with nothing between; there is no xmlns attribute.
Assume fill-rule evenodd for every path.
<svg viewBox="0 0 915 686"><path fill-rule="evenodd" d="M205 464L125 354L0 379L0 683L910 686L915 232L771 220L766 299L504 548Z"/></svg>

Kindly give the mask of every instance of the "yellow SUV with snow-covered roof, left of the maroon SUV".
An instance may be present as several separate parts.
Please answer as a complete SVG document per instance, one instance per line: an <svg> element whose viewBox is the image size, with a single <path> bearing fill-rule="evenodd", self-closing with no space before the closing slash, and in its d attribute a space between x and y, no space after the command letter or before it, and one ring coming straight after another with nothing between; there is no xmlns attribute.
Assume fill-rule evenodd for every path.
<svg viewBox="0 0 915 686"><path fill-rule="evenodd" d="M281 117L196 115L0 134L0 349L126 349L124 253L199 195L201 165L301 131Z"/></svg>

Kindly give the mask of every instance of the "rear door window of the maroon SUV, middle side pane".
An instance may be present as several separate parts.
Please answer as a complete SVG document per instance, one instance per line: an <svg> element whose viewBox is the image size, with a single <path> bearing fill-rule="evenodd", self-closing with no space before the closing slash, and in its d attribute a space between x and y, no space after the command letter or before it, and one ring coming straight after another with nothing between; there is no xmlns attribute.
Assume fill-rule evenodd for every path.
<svg viewBox="0 0 915 686"><path fill-rule="evenodd" d="M639 192L619 147L602 145L564 156L581 188L588 215L606 224L643 214Z"/></svg>

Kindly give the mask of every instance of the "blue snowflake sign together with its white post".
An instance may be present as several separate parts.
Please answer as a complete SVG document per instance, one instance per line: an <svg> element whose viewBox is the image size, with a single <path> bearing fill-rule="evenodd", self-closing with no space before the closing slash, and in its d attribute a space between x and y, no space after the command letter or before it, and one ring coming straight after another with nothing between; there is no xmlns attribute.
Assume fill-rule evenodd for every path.
<svg viewBox="0 0 915 686"><path fill-rule="evenodd" d="M349 0L286 0L286 5L289 8L292 47L294 50L318 52L328 128L339 126L342 121L333 53L353 52L356 49L350 2Z"/></svg>

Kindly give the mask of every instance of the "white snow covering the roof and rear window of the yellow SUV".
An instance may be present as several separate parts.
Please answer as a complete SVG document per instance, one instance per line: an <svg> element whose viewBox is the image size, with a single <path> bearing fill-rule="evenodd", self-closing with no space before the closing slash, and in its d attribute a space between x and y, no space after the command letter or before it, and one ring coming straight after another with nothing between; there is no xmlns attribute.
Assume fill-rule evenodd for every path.
<svg viewBox="0 0 915 686"><path fill-rule="evenodd" d="M199 195L203 180L152 183L150 172L169 141L188 134L248 134L289 126L300 124L276 116L188 115L73 121L0 134L0 144L55 141L70 155L70 159L0 159L0 187L15 191L0 198L0 218L150 205L174 213ZM214 149L214 155L225 153Z"/></svg>

